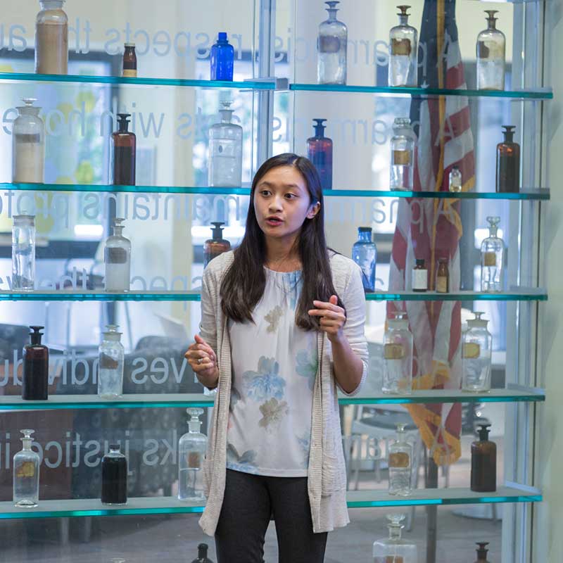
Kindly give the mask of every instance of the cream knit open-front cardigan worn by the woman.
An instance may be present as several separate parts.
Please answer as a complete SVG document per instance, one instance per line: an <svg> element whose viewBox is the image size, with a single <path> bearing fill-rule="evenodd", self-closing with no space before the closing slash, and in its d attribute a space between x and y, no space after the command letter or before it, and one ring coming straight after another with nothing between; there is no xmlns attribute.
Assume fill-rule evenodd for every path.
<svg viewBox="0 0 563 563"><path fill-rule="evenodd" d="M227 422L231 396L231 345L227 318L220 304L220 286L224 272L233 262L232 251L214 258L203 272L201 288L201 337L215 350L219 384L213 407L208 450L203 464L207 504L199 524L209 536L215 534L223 502L227 466ZM365 295L361 270L349 258L335 254L330 265L336 293L346 307L344 334L364 369L360 385L367 375L367 342L364 334ZM312 307L311 303L311 307ZM317 334L319 367L312 396L312 425L308 468L308 491L313 531L327 532L346 526L346 467L341 441L340 412L334 378L331 343L324 332ZM342 391L342 390L341 390ZM280 448L284 445L280 444Z"/></svg>

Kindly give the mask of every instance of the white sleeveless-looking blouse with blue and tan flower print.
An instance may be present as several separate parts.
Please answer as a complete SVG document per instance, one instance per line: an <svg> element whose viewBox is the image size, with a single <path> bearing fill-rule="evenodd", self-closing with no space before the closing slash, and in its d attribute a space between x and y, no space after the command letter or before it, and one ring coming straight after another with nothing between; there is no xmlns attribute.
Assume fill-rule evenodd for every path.
<svg viewBox="0 0 563 563"><path fill-rule="evenodd" d="M295 324L301 270L265 268L254 323L229 321L232 389L227 469L307 476L317 333ZM312 306L312 305L311 305Z"/></svg>

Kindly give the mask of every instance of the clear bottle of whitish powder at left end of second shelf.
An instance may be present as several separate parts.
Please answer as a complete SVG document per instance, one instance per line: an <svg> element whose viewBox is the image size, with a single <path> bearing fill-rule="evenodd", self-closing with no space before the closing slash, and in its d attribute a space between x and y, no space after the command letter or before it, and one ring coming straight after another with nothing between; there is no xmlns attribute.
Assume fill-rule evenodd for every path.
<svg viewBox="0 0 563 563"><path fill-rule="evenodd" d="M42 183L45 167L45 124L37 100L23 98L12 130L12 182Z"/></svg>

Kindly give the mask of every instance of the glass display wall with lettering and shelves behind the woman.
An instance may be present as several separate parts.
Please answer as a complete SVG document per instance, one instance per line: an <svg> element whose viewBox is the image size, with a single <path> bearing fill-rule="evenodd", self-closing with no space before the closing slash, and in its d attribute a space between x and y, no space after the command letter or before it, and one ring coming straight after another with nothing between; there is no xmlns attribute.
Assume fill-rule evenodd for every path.
<svg viewBox="0 0 563 563"><path fill-rule="evenodd" d="M213 539L197 524L204 502L177 498L186 408L203 409L206 432L214 400L184 351L198 331L213 223L236 248L253 173L286 151L315 156L331 184L329 246L352 257L358 227L371 228L366 240L377 246L375 269L364 264L367 286L374 278L366 291L369 377L358 396L340 398L352 522L330 534L327 560L372 561L388 514L392 531L405 525L419 562L472 561L476 542L488 542L491 562L531 560L534 503L542 500L536 411L545 400L536 336L548 298L547 3L336 4L69 0L68 68L56 75L36 72L38 46L52 55L60 39L43 27L36 39L39 2L0 8L0 561L70 561L77 548L85 561L191 561L201 542L215 560ZM412 30L391 31L400 23L415 28L416 45ZM500 63L495 29L505 40ZM232 77L219 68L229 59L214 47L220 32L232 46ZM136 75L123 63L131 43ZM52 72L61 61L43 63ZM44 148L41 125L32 131L37 120L15 122L26 105L40 108ZM503 126L515 127L519 160ZM135 179L117 182L133 158L125 129L136 139ZM402 139L415 148L396 144ZM241 168L236 182L224 179L232 171L220 168L222 151ZM16 173L18 162L33 168L30 158L39 158L39 179ZM34 279L25 291L18 268L29 259L13 246L16 215L34 216ZM424 260L427 291L415 291L415 259ZM129 291L106 289L108 267ZM408 394L404 386L382 391L390 362L402 358L388 339L398 312L414 341ZM488 322L486 341L472 339L483 328L475 312ZM46 401L21 398L30 326L44 327L49 348ZM123 386L108 398L99 396L99 378L120 369L119 350L108 360L116 340ZM471 393L463 390L470 369L489 377ZM388 493L397 424L412 448L406 496ZM481 424L491 425L497 448L495 491L472 490ZM13 502L14 475L26 476L13 459L23 429L34 430L39 456L37 507ZM112 444L127 458L125 505L101 503ZM272 529L265 551L276 560Z"/></svg>

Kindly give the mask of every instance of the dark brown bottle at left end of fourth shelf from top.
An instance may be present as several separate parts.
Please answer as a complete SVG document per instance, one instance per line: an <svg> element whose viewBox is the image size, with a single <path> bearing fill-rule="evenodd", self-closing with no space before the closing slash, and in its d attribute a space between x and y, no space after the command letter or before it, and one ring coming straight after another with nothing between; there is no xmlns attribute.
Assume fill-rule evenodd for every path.
<svg viewBox="0 0 563 563"><path fill-rule="evenodd" d="M31 343L23 348L22 398L49 398L49 348L41 343L43 327L30 327Z"/></svg>

